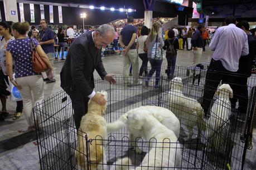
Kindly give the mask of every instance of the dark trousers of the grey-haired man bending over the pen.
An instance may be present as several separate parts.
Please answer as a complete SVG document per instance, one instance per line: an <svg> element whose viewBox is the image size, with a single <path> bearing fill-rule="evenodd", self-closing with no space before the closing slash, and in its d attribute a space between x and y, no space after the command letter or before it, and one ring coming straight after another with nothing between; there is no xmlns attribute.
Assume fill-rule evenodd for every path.
<svg viewBox="0 0 256 170"><path fill-rule="evenodd" d="M75 90L71 92L70 98L74 110L73 117L75 127L78 130L80 128L82 117L87 113L89 98L81 96L79 92Z"/></svg>

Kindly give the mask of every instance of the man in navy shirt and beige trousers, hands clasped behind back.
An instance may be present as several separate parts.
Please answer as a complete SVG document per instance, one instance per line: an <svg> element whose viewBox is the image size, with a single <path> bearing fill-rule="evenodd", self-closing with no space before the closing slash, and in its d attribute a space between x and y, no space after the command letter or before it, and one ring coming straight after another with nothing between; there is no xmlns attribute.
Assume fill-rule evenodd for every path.
<svg viewBox="0 0 256 170"><path fill-rule="evenodd" d="M128 17L127 25L122 29L119 37L120 45L124 48L124 86L136 86L142 84L142 82L139 82L139 59L135 44L135 39L137 37L137 27L134 27L132 23L133 17ZM130 63L132 64L133 83L128 82Z"/></svg>

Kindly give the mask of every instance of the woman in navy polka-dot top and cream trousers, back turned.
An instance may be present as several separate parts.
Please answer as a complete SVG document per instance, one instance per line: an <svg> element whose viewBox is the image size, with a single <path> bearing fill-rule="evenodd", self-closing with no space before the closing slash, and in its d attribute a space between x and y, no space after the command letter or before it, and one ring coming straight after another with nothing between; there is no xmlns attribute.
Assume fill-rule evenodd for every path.
<svg viewBox="0 0 256 170"><path fill-rule="evenodd" d="M42 73L33 71L31 42L35 44L37 53L50 69L51 75L54 73L54 68L38 41L35 38L27 38L29 26L28 22L13 24L12 34L15 40L7 44L6 63L9 80L22 95L23 113L28 123L28 131L33 131L37 120L33 120L32 107L44 99L44 81ZM15 79L13 79L12 58L15 60Z"/></svg>

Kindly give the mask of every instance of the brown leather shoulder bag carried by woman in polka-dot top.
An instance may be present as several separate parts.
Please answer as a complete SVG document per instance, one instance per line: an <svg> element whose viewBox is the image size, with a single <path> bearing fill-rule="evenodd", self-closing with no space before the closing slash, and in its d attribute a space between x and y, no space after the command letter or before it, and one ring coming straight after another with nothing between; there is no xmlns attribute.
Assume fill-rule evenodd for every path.
<svg viewBox="0 0 256 170"><path fill-rule="evenodd" d="M33 71L37 73L45 72L47 71L48 67L46 63L42 60L42 58L39 56L39 54L36 51L35 43L30 38L30 44L32 48L32 65L33 65Z"/></svg>

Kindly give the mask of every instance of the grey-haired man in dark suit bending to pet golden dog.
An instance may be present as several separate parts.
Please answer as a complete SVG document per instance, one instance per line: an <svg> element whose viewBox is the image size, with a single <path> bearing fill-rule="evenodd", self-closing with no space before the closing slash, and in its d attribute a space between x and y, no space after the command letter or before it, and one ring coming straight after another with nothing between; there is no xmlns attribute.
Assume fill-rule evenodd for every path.
<svg viewBox="0 0 256 170"><path fill-rule="evenodd" d="M76 129L81 118L87 112L89 99L103 105L106 103L102 94L95 94L94 69L102 79L115 84L113 74L107 74L101 59L102 46L114 40L115 30L103 24L96 31L87 32L71 44L64 66L60 72L61 87L69 94L74 109Z"/></svg>

